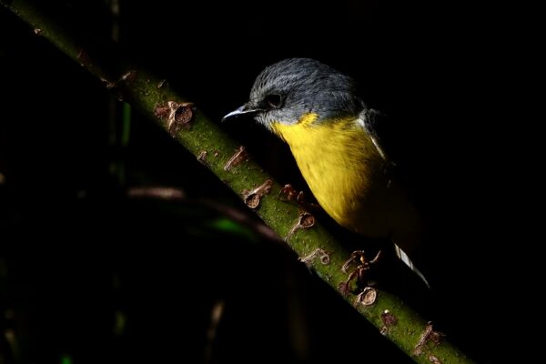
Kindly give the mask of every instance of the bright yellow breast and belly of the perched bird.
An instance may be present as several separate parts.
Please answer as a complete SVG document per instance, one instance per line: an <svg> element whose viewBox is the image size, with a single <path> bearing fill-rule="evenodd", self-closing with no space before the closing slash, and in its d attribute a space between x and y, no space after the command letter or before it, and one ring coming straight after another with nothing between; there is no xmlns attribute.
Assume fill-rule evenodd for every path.
<svg viewBox="0 0 546 364"><path fill-rule="evenodd" d="M341 226L369 236L389 233L385 201L388 178L384 159L357 118L316 122L317 114L297 124L273 123L298 163L313 195Z"/></svg>

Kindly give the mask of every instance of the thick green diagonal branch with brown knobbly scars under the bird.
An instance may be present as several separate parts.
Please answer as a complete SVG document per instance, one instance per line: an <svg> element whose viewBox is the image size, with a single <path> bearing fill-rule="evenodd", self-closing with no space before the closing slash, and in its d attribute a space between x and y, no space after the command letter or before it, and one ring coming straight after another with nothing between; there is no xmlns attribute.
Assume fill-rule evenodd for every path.
<svg viewBox="0 0 546 364"><path fill-rule="evenodd" d="M164 127L198 160L227 184L259 217L274 229L320 278L339 291L351 305L352 295L340 292L347 274L341 271L349 251L310 215L300 215L297 206L278 198L281 187L252 159L243 147L227 136L217 123L210 121L194 106L177 95L167 84L136 66L126 66L119 59L92 54L90 47L63 31L38 12L27 0L0 0L15 15L31 25L37 36L43 36L66 56L74 59L98 77L115 96L135 106L158 125ZM105 63L108 62L108 65ZM102 63L101 63L102 62ZM108 71L106 71L106 69ZM112 72L112 69L116 71ZM311 227L308 227L311 225ZM317 253L314 255L314 253ZM471 362L459 349L396 296L377 290L369 306L356 309L392 340L410 358L420 363Z"/></svg>

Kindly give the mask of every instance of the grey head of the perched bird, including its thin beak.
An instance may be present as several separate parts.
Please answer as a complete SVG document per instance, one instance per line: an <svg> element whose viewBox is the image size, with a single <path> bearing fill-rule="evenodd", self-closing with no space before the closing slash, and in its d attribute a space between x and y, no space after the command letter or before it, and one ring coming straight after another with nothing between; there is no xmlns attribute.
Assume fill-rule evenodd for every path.
<svg viewBox="0 0 546 364"><path fill-rule="evenodd" d="M309 58L288 58L266 67L256 78L248 103L224 119L251 114L268 128L298 123L308 113L317 122L359 116L366 106L349 76Z"/></svg>

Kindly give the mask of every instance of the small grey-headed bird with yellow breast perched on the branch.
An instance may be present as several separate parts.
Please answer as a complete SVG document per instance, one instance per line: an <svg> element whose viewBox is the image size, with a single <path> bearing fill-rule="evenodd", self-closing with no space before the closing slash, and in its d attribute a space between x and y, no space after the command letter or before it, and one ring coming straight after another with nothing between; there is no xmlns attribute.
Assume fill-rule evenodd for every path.
<svg viewBox="0 0 546 364"><path fill-rule="evenodd" d="M389 238L397 256L427 286L410 259L423 223L391 170L378 123L384 117L359 96L356 81L311 58L264 68L248 102L223 117L252 116L288 144L326 213L369 238Z"/></svg>

